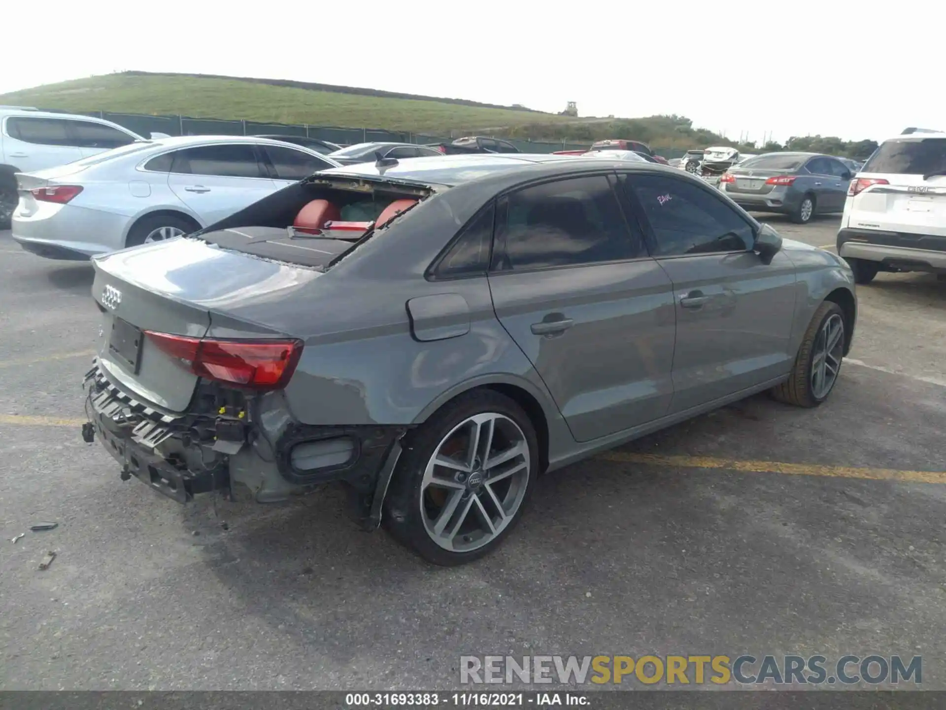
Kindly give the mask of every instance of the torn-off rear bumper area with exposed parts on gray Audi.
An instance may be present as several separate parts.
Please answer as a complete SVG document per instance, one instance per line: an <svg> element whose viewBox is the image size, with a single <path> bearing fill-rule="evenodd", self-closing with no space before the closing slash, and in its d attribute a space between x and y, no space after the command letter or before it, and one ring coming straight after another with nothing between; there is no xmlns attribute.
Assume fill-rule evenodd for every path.
<svg viewBox="0 0 946 710"><path fill-rule="evenodd" d="M179 503L243 487L272 503L342 483L356 522L369 530L380 523L407 427L308 426L286 416L279 393L257 399L217 385L195 397L198 411L171 415L116 387L97 364L84 386L82 437L99 438L123 480L134 476ZM282 423L267 429L269 420Z"/></svg>

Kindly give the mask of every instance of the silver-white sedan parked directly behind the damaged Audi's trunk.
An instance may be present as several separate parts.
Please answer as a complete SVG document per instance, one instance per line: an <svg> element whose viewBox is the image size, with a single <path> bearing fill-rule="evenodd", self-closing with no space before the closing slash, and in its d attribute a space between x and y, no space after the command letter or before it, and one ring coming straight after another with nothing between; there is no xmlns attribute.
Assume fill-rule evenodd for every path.
<svg viewBox="0 0 946 710"><path fill-rule="evenodd" d="M18 173L12 236L41 257L87 259L194 232L338 166L267 138L139 141L59 168Z"/></svg>

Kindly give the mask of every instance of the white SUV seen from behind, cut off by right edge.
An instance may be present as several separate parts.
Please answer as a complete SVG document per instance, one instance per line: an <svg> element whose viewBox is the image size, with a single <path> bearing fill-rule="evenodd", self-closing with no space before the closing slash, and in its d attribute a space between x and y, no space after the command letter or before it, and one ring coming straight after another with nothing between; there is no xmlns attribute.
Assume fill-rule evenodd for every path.
<svg viewBox="0 0 946 710"><path fill-rule="evenodd" d="M946 275L946 133L907 129L874 151L850 181L837 251L857 283Z"/></svg>

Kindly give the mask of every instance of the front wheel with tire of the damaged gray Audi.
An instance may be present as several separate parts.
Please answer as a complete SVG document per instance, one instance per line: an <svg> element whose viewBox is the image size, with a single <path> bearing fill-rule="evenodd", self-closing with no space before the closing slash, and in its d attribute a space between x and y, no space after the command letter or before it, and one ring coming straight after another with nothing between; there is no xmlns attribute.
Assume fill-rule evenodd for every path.
<svg viewBox="0 0 946 710"><path fill-rule="evenodd" d="M831 301L818 306L801 340L792 374L772 389L772 396L798 407L816 407L828 399L841 372L844 328L840 306Z"/></svg>

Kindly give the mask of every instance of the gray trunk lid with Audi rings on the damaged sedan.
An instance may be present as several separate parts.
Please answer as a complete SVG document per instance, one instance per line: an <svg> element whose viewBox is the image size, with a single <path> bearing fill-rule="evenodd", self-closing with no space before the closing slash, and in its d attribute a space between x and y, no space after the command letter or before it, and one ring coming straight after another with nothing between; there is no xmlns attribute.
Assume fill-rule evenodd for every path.
<svg viewBox="0 0 946 710"><path fill-rule="evenodd" d="M169 413L187 409L199 378L142 331L224 339L291 335L256 322L254 313L320 275L180 238L95 257L93 264L102 368L114 384Z"/></svg>

